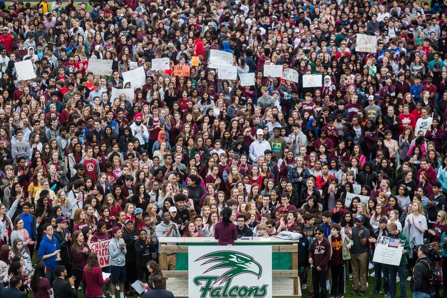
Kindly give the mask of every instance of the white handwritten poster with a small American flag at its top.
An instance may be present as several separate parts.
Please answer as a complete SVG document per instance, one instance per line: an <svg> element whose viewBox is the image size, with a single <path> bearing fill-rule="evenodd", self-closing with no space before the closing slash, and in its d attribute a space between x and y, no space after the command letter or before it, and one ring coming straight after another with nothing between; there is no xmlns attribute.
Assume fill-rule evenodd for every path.
<svg viewBox="0 0 447 298"><path fill-rule="evenodd" d="M404 247L404 239L379 236L374 250L373 262L399 266Z"/></svg>

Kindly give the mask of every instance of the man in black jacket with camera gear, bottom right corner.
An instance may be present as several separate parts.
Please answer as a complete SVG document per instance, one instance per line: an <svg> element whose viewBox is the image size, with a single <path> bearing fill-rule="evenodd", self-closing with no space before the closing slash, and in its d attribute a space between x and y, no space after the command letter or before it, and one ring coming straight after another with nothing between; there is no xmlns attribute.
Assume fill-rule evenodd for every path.
<svg viewBox="0 0 447 298"><path fill-rule="evenodd" d="M435 263L429 257L430 248L422 244L418 248L418 260L413 268L413 298L435 297L435 286L430 280L430 271Z"/></svg>

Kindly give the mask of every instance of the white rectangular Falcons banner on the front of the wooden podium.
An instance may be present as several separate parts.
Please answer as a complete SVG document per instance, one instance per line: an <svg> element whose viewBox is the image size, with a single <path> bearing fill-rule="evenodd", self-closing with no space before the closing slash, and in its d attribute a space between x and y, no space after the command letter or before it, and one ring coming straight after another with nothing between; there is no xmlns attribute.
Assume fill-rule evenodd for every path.
<svg viewBox="0 0 447 298"><path fill-rule="evenodd" d="M272 246L189 246L189 297L272 297Z"/></svg>

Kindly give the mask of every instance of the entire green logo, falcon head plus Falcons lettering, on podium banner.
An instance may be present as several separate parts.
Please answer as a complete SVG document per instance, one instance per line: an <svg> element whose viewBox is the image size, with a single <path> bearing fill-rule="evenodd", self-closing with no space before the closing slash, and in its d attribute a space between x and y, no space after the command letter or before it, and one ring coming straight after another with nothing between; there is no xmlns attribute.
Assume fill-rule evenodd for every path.
<svg viewBox="0 0 447 298"><path fill-rule="evenodd" d="M221 276L198 276L194 278L194 284L201 286L205 281L205 285L200 288L202 295L200 298L248 298L248 297L265 297L267 295L268 285L261 287L239 287L231 286L234 277L240 274L253 274L258 277L262 275L262 267L251 256L234 251L217 251L201 256L197 261L206 260L202 265L216 263L207 269L204 273L216 269L228 269ZM218 285L218 282L219 285Z"/></svg>

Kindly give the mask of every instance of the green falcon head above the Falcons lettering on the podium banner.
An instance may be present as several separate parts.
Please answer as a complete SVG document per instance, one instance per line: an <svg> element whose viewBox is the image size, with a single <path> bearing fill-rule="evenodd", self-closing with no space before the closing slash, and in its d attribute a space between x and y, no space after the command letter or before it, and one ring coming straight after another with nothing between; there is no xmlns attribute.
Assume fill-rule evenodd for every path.
<svg viewBox="0 0 447 298"><path fill-rule="evenodd" d="M243 273L251 273L258 277L258 279L262 275L262 267L256 262L251 256L234 251L217 251L211 252L206 255L201 256L196 261L206 260L203 265L216 263L211 266L206 272L227 268L224 274L219 276L219 278L215 281L218 281L223 284L227 280L231 280L233 277L243 274Z"/></svg>

